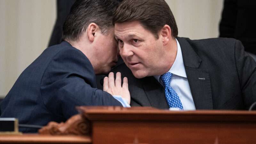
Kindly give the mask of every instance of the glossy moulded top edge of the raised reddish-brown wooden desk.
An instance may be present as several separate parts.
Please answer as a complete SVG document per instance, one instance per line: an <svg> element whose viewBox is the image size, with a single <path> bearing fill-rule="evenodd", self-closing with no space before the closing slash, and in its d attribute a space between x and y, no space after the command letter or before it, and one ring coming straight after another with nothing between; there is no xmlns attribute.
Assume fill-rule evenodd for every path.
<svg viewBox="0 0 256 144"><path fill-rule="evenodd" d="M194 110L170 111L152 107L77 107L87 119L142 121L245 121L256 122L256 111ZM152 116L153 115L153 116Z"/></svg>

